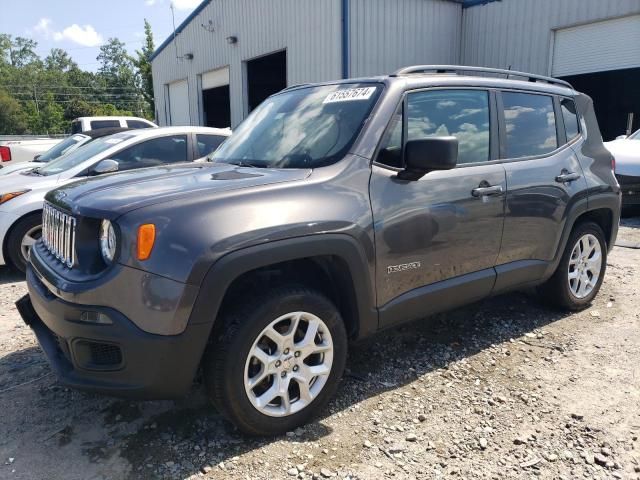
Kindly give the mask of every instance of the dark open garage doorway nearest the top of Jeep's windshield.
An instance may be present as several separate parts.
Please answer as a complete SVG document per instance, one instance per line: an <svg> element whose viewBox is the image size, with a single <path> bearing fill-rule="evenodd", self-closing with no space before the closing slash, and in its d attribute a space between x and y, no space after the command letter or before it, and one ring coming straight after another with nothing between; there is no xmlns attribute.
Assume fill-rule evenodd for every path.
<svg viewBox="0 0 640 480"><path fill-rule="evenodd" d="M265 98L287 86L287 52L247 61L247 106L250 112Z"/></svg>

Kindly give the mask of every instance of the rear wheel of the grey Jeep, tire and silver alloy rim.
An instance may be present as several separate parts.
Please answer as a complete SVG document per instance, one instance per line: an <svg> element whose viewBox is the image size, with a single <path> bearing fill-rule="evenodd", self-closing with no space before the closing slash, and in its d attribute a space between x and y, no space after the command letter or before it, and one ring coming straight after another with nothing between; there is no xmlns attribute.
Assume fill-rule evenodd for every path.
<svg viewBox="0 0 640 480"><path fill-rule="evenodd" d="M580 241L586 242L582 243L586 257L580 257ZM599 262L596 261L597 254ZM597 263L598 276L594 283L593 275ZM598 294L606 269L607 243L602 228L594 222L579 223L569 236L558 268L551 278L538 288L538 292L545 302L555 307L572 311L582 310L588 307ZM581 276L581 272L585 276ZM589 281L586 282L585 279Z"/></svg>

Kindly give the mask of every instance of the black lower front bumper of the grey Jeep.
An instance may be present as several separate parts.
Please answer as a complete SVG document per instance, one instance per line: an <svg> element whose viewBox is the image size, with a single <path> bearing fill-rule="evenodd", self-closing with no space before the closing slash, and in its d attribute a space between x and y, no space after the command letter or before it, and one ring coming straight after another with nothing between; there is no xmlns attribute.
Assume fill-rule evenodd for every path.
<svg viewBox="0 0 640 480"><path fill-rule="evenodd" d="M179 335L152 334L113 308L59 298L32 265L27 268L27 283L29 295L16 306L61 383L139 399L177 398L188 392L210 324L189 324ZM106 315L111 323L82 321L87 311Z"/></svg>

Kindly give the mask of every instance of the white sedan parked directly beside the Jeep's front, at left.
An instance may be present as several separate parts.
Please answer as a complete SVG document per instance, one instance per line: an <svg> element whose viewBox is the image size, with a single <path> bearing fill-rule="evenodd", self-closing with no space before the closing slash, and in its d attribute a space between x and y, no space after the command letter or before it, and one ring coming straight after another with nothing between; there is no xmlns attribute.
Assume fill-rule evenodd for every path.
<svg viewBox="0 0 640 480"><path fill-rule="evenodd" d="M29 249L42 233L45 194L61 185L105 173L201 159L231 135L229 129L163 127L98 138L32 170L0 177L0 265L24 271Z"/></svg>

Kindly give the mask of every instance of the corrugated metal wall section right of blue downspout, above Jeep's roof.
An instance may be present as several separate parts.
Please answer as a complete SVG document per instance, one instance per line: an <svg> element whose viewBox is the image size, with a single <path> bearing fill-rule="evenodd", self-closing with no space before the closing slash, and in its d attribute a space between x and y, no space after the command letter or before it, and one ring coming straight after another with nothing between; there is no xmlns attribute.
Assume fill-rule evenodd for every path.
<svg viewBox="0 0 640 480"><path fill-rule="evenodd" d="M349 76L459 63L461 15L444 0L350 0Z"/></svg>

